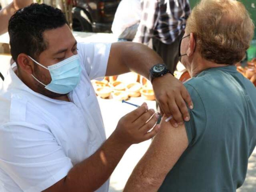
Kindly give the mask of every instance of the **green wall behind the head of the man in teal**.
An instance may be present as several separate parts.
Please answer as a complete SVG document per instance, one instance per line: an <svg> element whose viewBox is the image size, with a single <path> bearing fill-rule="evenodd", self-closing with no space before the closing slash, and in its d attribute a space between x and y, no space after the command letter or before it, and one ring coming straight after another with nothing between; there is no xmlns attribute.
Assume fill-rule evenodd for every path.
<svg viewBox="0 0 256 192"><path fill-rule="evenodd" d="M190 6L193 7L196 5L197 2L200 0L189 0ZM246 9L250 12L251 18L254 21L256 26L256 0L240 0L246 7ZM254 39L256 39L256 29L254 31Z"/></svg>

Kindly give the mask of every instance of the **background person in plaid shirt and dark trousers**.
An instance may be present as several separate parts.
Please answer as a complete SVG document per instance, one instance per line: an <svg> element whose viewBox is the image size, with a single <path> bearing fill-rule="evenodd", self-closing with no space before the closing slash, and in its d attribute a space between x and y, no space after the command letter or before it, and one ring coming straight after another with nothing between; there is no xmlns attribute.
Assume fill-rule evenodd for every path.
<svg viewBox="0 0 256 192"><path fill-rule="evenodd" d="M188 0L143 0L142 16L134 42L148 45L163 58L173 73L178 63L178 48L190 14Z"/></svg>

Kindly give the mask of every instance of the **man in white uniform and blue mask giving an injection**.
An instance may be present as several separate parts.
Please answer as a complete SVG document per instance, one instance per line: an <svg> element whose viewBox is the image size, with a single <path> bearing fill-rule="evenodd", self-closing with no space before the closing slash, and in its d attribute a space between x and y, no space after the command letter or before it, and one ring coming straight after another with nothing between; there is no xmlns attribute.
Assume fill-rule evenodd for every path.
<svg viewBox="0 0 256 192"><path fill-rule="evenodd" d="M131 70L148 77L163 61L142 44L77 43L64 14L45 4L16 12L8 31L17 67L0 85L0 191L107 192L127 148L159 125L143 104L106 140L90 80ZM153 87L172 124L189 119L185 102L193 104L177 79L166 73Z"/></svg>

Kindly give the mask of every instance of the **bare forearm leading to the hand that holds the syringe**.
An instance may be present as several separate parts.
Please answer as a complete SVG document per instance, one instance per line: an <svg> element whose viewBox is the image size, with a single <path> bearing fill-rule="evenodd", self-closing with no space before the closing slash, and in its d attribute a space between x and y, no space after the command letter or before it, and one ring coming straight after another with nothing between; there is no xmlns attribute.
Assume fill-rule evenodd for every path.
<svg viewBox="0 0 256 192"><path fill-rule="evenodd" d="M95 191L103 185L129 145L118 141L115 132L90 157L76 164L68 175L46 191Z"/></svg>

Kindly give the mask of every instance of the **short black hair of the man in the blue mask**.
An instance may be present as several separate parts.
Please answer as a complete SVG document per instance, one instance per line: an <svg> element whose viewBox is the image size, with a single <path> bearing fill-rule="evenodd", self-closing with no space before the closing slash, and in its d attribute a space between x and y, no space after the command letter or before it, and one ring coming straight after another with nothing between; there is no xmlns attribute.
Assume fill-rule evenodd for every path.
<svg viewBox="0 0 256 192"><path fill-rule="evenodd" d="M17 63L20 53L37 58L47 49L44 41L45 30L55 29L67 24L65 14L47 4L31 4L18 10L9 20L11 54Z"/></svg>

